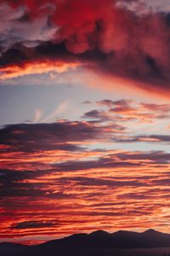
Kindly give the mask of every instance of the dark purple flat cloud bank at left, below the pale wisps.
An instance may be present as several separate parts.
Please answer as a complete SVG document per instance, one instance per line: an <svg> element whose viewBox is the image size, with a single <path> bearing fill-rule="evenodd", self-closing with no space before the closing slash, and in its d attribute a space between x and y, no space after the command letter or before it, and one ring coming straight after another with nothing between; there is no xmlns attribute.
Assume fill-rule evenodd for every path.
<svg viewBox="0 0 170 256"><path fill-rule="evenodd" d="M120 127L99 126L86 121L60 120L56 123L6 125L0 130L0 138L3 152L77 150L77 143L97 139L100 141L104 137L109 139L113 129L119 131Z"/></svg>

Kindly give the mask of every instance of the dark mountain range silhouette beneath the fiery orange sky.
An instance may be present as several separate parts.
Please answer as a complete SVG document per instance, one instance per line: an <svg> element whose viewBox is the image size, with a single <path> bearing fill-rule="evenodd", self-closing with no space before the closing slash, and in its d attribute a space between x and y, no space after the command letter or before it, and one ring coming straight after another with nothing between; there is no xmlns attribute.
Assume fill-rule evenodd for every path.
<svg viewBox="0 0 170 256"><path fill-rule="evenodd" d="M79 255L80 252L81 255L91 255L90 252L93 250L100 250L99 252L102 252L102 250L106 249L158 247L170 248L169 234L164 234L156 230L146 230L142 233L119 230L112 234L103 230L97 230L90 234L75 234L30 247L14 243L1 243L0 255L12 255L14 253L17 253L17 255L23 255L22 253L24 253L25 256L58 255L58 253L59 255ZM87 250L88 254L85 253ZM98 255L106 254L98 253Z"/></svg>

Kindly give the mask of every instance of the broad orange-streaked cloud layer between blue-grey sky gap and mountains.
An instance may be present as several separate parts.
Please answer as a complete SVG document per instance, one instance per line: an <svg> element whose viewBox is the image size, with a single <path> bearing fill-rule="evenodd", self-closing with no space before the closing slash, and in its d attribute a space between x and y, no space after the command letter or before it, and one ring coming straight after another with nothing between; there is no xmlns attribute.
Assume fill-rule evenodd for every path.
<svg viewBox="0 0 170 256"><path fill-rule="evenodd" d="M94 106L79 121L1 128L0 241L38 243L96 229L168 231L169 104L104 99Z"/></svg>

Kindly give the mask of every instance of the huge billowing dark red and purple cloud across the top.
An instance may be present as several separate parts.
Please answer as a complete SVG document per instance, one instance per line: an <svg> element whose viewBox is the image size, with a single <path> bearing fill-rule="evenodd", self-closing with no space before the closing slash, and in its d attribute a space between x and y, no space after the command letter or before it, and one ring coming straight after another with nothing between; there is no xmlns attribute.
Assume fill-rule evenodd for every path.
<svg viewBox="0 0 170 256"><path fill-rule="evenodd" d="M4 0L1 66L42 58L74 59L88 68L168 89L169 14L139 15L121 7L121 2Z"/></svg>

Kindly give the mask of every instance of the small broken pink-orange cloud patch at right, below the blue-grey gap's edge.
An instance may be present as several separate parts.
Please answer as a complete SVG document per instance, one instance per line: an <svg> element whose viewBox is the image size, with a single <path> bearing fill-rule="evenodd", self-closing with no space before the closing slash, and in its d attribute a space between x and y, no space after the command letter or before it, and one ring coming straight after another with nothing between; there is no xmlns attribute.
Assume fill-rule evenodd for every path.
<svg viewBox="0 0 170 256"><path fill-rule="evenodd" d="M166 120L170 117L169 104L156 104L134 102L132 100L111 101L108 99L96 102L102 109L94 109L84 114L86 119L98 119L101 122L115 121L121 122L136 121L139 123L153 123L156 120ZM106 107L107 109L103 109Z"/></svg>

